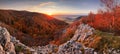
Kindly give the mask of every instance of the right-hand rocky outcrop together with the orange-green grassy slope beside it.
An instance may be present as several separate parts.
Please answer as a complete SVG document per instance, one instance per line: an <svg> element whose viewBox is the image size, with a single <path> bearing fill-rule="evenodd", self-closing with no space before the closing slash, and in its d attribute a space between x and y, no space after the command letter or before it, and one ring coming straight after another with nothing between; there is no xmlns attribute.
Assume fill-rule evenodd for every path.
<svg viewBox="0 0 120 54"><path fill-rule="evenodd" d="M38 54L120 54L119 40L115 40L120 38L114 38L108 40L109 38L96 36L94 28L87 24L79 24L74 36L67 42L59 46L51 44L39 46L35 50ZM112 41L115 41L116 44ZM106 47L109 46L106 45L108 43L111 45L109 48Z"/></svg>

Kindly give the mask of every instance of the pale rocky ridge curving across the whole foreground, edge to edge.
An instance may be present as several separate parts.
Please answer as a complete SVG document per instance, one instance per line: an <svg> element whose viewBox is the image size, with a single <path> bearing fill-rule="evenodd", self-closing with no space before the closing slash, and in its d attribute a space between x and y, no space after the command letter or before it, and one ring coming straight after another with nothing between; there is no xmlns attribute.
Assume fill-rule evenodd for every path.
<svg viewBox="0 0 120 54"><path fill-rule="evenodd" d="M75 31L74 36L61 45L48 44L46 46L37 46L37 47L28 47L19 40L16 40L15 37L10 36L9 32L0 27L0 53L13 53L13 54L99 54L99 53L112 53L119 54L120 49L112 50L107 49L102 52L96 52L94 47L89 47L87 45L93 45L96 41L99 41L101 38L94 37L95 33L94 28L86 24L80 24ZM97 39L97 40L96 40ZM86 42L88 41L88 42ZM118 45L119 46L119 45ZM100 47L100 46L98 46Z"/></svg>

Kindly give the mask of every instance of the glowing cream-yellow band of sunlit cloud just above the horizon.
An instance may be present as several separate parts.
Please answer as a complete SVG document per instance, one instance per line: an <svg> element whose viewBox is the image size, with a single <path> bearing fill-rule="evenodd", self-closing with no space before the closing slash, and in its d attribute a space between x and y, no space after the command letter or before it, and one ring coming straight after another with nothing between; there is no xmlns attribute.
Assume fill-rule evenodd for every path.
<svg viewBox="0 0 120 54"><path fill-rule="evenodd" d="M83 3L82 5L86 5L86 3ZM35 6L31 6L27 8L29 11L33 12L40 12L48 15L53 14L86 14L89 13L92 10L83 10L83 9L77 9L73 7L66 7L66 6L60 6L56 2L41 2Z"/></svg>

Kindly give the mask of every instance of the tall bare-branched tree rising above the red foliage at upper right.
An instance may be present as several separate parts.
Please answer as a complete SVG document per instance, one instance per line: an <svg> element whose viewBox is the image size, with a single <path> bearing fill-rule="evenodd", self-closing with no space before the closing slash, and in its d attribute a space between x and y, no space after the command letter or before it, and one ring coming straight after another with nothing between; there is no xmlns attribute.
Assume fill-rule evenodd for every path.
<svg viewBox="0 0 120 54"><path fill-rule="evenodd" d="M112 20L110 24L110 30L114 31L115 18L116 17L116 8L120 6L120 0L100 0L104 5L105 9L112 13Z"/></svg>

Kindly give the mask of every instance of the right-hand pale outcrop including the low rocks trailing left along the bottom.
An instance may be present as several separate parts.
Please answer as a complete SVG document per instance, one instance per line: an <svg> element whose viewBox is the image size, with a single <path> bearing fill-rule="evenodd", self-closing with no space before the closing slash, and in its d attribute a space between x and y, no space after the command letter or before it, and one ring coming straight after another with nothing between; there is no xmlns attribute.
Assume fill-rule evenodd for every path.
<svg viewBox="0 0 120 54"><path fill-rule="evenodd" d="M46 45L35 48L38 54L94 54L94 49L85 47L79 41L84 41L87 37L93 34L94 29L88 25L80 24L71 38L64 44L59 46Z"/></svg>

